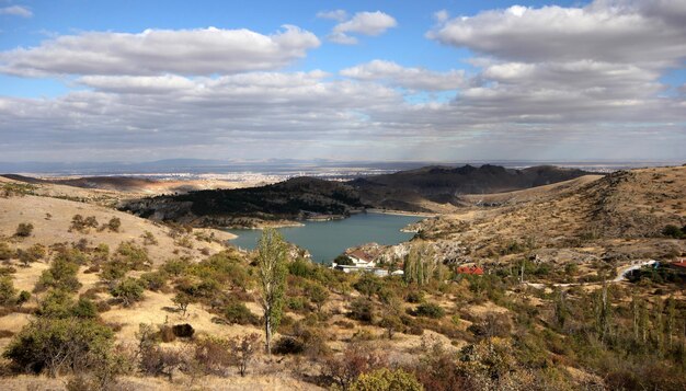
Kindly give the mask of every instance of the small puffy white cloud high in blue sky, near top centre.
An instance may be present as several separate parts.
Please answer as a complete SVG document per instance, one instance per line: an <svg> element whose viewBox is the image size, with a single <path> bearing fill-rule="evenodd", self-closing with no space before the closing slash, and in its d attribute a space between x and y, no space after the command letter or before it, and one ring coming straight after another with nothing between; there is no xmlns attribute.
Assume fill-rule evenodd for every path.
<svg viewBox="0 0 686 391"><path fill-rule="evenodd" d="M357 12L352 19L336 24L328 38L336 44L354 45L357 38L350 34L376 36L397 25L393 16L381 11Z"/></svg>

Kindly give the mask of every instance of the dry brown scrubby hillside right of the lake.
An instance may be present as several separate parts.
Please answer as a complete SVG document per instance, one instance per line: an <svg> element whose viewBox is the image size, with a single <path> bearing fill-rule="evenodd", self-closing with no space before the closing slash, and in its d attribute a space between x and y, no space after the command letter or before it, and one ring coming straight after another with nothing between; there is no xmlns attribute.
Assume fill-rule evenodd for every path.
<svg viewBox="0 0 686 391"><path fill-rule="evenodd" d="M494 256L506 261L537 254L562 263L626 262L686 251L683 241L662 234L668 225L686 225L684 166L620 171L462 199L481 206L416 227L430 240L467 243L461 260L492 262Z"/></svg>

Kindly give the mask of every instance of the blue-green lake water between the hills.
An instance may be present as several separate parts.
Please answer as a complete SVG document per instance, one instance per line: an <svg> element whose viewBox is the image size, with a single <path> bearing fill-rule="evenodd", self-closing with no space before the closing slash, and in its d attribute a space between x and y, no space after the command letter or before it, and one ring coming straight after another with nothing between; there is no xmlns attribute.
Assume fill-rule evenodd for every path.
<svg viewBox="0 0 686 391"><path fill-rule="evenodd" d="M361 214L344 220L306 221L304 227L279 228L278 231L286 241L307 249L312 261L330 263L348 248L370 242L398 244L410 240L414 234L400 232L400 229L421 219L415 216ZM238 235L231 243L242 249L254 249L262 234L261 230L227 231Z"/></svg>

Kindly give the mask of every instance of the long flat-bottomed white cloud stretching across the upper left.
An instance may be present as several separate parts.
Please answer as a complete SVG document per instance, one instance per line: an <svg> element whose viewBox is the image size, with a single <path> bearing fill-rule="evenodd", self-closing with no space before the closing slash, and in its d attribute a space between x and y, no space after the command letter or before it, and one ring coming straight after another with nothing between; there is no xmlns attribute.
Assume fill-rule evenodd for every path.
<svg viewBox="0 0 686 391"><path fill-rule="evenodd" d="M291 25L272 35L215 27L89 32L0 53L0 71L18 76L236 73L281 68L319 45L315 34Z"/></svg>

